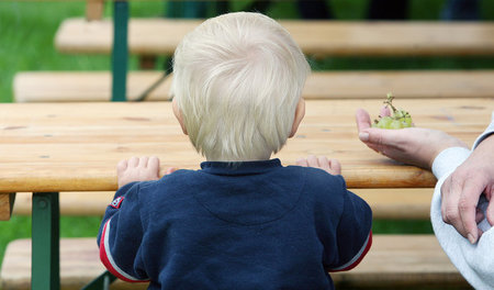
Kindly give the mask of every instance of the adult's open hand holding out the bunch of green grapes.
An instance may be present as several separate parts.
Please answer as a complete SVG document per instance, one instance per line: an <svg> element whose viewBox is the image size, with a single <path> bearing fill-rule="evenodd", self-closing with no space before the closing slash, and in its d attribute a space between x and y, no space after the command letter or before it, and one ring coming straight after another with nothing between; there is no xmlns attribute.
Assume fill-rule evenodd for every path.
<svg viewBox="0 0 494 290"><path fill-rule="evenodd" d="M384 109L381 115L389 114ZM356 112L359 138L373 150L392 159L430 169L434 158L448 147L467 147L460 140L445 132L406 127L388 130L371 127L369 113L363 109Z"/></svg>

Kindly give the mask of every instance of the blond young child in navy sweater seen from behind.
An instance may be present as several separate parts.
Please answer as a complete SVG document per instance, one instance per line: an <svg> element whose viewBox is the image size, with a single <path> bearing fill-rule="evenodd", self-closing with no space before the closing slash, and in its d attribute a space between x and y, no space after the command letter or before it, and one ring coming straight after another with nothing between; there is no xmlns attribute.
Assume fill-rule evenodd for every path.
<svg viewBox="0 0 494 290"><path fill-rule="evenodd" d="M269 159L305 113L300 47L276 21L238 12L186 35L173 62L173 112L207 161L161 179L156 157L121 161L103 264L149 289L334 289L327 271L362 259L372 216L337 161Z"/></svg>

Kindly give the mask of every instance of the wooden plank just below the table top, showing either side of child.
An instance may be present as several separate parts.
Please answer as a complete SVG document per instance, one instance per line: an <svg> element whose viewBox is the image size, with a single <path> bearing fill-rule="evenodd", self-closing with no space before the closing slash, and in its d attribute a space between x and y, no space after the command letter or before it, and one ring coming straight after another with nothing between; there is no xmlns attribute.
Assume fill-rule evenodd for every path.
<svg viewBox="0 0 494 290"><path fill-rule="evenodd" d="M374 219L429 219L431 188L351 189L351 191L369 203ZM114 191L60 192L60 214L102 215L114 193ZM30 215L31 207L32 193L18 193L13 214Z"/></svg>

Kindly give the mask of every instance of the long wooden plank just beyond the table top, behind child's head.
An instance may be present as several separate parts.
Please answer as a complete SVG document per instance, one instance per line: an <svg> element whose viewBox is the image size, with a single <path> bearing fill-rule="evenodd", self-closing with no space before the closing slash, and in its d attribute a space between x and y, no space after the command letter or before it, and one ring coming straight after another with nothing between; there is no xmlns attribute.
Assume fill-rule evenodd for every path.
<svg viewBox="0 0 494 290"><path fill-rule="evenodd" d="M127 99L137 99L155 83L160 71L131 71ZM494 70L313 71L303 91L305 99L371 99L393 92L397 98L493 98ZM110 101L109 71L29 71L14 78L18 102ZM169 100L171 76L146 100Z"/></svg>

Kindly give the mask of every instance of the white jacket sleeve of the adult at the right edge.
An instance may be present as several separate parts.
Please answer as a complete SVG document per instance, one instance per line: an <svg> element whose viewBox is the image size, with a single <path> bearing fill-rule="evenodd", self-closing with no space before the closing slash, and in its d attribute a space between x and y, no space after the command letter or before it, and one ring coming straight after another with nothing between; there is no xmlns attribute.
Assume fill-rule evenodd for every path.
<svg viewBox="0 0 494 290"><path fill-rule="evenodd" d="M475 141L472 150L492 133L494 133L494 112L490 126ZM442 150L434 160L433 172L438 182L430 205L430 219L439 244L467 281L475 289L494 289L494 230L487 219L485 217L479 224L479 228L484 234L475 245L472 245L453 226L445 223L441 216L442 182L470 154L471 150L467 148L451 147ZM487 204L486 199L482 196L478 207L485 213Z"/></svg>

